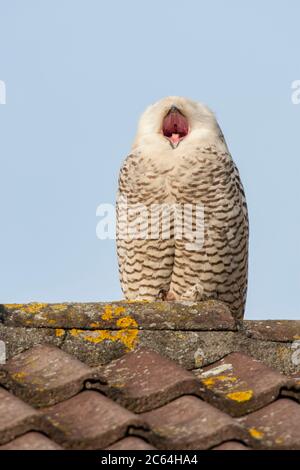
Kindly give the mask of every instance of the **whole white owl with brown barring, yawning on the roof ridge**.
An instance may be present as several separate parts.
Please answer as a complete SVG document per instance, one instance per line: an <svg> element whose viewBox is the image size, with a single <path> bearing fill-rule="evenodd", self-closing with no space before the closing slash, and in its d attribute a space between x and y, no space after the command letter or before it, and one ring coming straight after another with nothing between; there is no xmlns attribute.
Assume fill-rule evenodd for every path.
<svg viewBox="0 0 300 470"><path fill-rule="evenodd" d="M172 119L170 113L175 113ZM124 198L127 208L142 204L151 214L146 239L126 235L126 227L137 221L137 211L125 211L126 222ZM197 249L187 248L186 234L176 237L174 213L161 210L161 205L174 204L203 207L204 239ZM150 228L158 219L163 223L159 236L151 238ZM147 229L147 223L140 220L139 227ZM169 97L142 115L119 176L117 249L126 299L219 299L236 318L243 317L248 271L246 199L217 121L202 104Z"/></svg>

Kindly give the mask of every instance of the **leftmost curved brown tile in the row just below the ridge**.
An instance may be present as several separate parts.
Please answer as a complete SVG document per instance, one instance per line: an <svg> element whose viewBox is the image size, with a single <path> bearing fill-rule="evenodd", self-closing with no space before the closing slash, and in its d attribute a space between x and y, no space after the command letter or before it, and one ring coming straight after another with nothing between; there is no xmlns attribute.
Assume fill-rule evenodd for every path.
<svg viewBox="0 0 300 470"><path fill-rule="evenodd" d="M4 366L4 385L34 406L49 406L78 393L92 369L59 348L38 345Z"/></svg>

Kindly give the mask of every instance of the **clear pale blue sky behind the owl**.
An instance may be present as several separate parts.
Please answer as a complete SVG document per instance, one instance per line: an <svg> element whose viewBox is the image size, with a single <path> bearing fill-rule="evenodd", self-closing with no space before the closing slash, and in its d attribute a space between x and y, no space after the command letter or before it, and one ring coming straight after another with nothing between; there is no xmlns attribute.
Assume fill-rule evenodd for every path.
<svg viewBox="0 0 300 470"><path fill-rule="evenodd" d="M247 318L299 319L297 0L0 0L0 302L121 297L96 238L144 108L217 114L250 213Z"/></svg>

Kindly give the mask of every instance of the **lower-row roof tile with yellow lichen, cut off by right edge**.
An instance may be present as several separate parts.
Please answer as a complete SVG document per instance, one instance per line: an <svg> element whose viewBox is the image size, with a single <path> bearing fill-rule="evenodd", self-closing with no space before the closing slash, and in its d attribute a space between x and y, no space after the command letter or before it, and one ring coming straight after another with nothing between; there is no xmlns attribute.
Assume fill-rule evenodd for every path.
<svg viewBox="0 0 300 470"><path fill-rule="evenodd" d="M280 399L239 418L247 429L246 442L260 449L300 449L300 406Z"/></svg>

